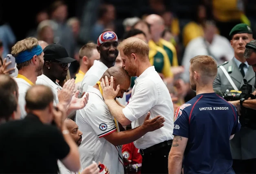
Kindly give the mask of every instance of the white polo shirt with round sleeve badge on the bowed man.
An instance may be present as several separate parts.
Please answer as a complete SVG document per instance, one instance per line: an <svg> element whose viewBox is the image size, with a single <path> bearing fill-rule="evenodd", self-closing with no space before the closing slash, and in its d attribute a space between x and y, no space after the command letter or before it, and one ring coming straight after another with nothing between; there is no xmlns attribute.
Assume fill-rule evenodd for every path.
<svg viewBox="0 0 256 174"><path fill-rule="evenodd" d="M104 139L104 136L117 131L114 117L98 89L89 86L87 92L90 99L84 109L77 111L75 117L75 122L83 133L79 146L82 166L85 168L93 161L100 161L108 167L111 174L123 174L121 148Z"/></svg>

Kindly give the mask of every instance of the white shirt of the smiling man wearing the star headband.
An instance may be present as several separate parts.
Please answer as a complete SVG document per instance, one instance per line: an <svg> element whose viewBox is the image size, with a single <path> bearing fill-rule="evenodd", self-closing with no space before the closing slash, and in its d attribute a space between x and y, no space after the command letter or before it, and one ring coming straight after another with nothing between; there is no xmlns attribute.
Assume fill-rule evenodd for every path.
<svg viewBox="0 0 256 174"><path fill-rule="evenodd" d="M101 61L95 60L93 66L86 72L80 86L80 94L86 92L88 86L94 86L102 77L108 67Z"/></svg>

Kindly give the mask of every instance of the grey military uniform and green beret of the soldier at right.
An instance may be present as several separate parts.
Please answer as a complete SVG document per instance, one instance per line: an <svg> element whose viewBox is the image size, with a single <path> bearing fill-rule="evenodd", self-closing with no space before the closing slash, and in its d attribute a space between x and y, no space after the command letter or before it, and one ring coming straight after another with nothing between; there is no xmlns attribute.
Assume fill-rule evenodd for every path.
<svg viewBox="0 0 256 174"><path fill-rule="evenodd" d="M238 33L249 33L252 34L251 28L247 24L238 24L230 32L232 37ZM247 72L245 76L239 70L239 62L235 57L229 61L222 64L227 73L230 75L234 82L234 85L240 90L243 86L243 79L245 78L247 82L254 86L255 84L255 73L252 66L247 66L248 63L245 62L247 66ZM245 70L245 69L244 69ZM225 76L221 66L218 67L218 74L214 80L214 89L221 90L225 92L227 89L234 89L230 84L229 80ZM252 91L255 87L252 88ZM241 128L240 132L234 135L234 138L230 140L230 150L233 158L233 169L236 173L256 173L256 130L250 128Z"/></svg>

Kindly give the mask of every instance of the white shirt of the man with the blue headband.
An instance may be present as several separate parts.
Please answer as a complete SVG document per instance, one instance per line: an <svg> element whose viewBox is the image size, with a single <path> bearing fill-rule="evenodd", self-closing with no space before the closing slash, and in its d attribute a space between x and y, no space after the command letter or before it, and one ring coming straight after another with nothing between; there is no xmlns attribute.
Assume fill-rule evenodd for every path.
<svg viewBox="0 0 256 174"><path fill-rule="evenodd" d="M22 79L22 78L13 78L17 85L18 85L18 92L19 92L19 105L20 105L20 118L24 118L26 117L26 111L25 111L25 105L26 105L26 91L28 91L28 89L31 87L31 85L29 83L26 82L26 80Z"/></svg>

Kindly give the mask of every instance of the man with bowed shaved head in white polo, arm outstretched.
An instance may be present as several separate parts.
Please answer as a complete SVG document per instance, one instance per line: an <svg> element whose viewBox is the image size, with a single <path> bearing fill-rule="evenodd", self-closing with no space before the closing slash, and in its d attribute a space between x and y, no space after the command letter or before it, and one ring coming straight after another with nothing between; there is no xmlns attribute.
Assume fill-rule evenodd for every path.
<svg viewBox="0 0 256 174"><path fill-rule="evenodd" d="M116 89L119 85L120 89L115 98L122 98L124 92L130 87L130 76L124 68L117 66L106 70L102 77L105 75L109 78L113 76L112 87ZM109 83L109 80L106 82ZM79 147L82 165L86 167L92 161L101 161L108 167L110 173L123 174L124 162L120 145L133 142L146 133L161 128L165 120L160 116L148 120L148 114L148 117L144 117L141 121L141 126L119 132L118 125L104 102L100 82L98 81L94 86L89 86L88 93L90 95L88 104L84 109L77 111L75 118L75 122L84 136Z"/></svg>

